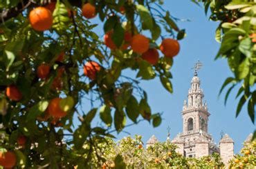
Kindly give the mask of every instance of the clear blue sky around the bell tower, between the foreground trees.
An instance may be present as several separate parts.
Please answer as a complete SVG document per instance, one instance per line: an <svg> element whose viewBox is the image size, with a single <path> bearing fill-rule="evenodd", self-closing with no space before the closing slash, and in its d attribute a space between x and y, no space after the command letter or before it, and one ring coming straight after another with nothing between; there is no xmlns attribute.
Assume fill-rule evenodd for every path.
<svg viewBox="0 0 256 169"><path fill-rule="evenodd" d="M201 88L203 88L204 100L208 102L211 114L208 132L219 143L220 132L223 130L235 141L235 153L239 152L243 141L250 132L255 130L255 126L247 115L246 106L241 110L239 117L235 118L238 101L235 100L235 91L231 93L226 106L224 106L226 90L218 98L223 81L226 77L232 76L226 59L214 61L219 49L219 43L214 40L214 32L218 24L209 21L203 8L196 6L190 0L165 0L164 8L169 10L174 17L190 19L189 22L178 23L180 28L185 28L187 37L180 41L181 52L174 58L174 66L171 69L174 93L170 95L157 78L152 81L142 81L140 85L147 91L152 112L163 112L163 121L158 128L153 128L147 121L143 121L138 125L126 128L125 131L129 132L131 136L142 135L144 143L152 135L156 135L160 141L165 141L168 126L171 128L171 139L182 132L183 100L187 99L190 81L193 77L191 68L196 61L200 60L203 63L203 68L199 71ZM93 23L98 21L98 19L92 20ZM99 115L95 120L99 120ZM125 132L116 135L117 139L125 136L127 136Z"/></svg>

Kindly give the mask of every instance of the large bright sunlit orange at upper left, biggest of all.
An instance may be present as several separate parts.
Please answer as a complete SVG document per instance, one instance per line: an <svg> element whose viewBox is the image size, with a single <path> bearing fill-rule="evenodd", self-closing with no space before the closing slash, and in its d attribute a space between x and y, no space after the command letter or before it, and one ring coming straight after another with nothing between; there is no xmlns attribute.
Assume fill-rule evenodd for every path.
<svg viewBox="0 0 256 169"><path fill-rule="evenodd" d="M53 25L53 14L47 8L37 7L29 13L29 21L34 30L48 30Z"/></svg>

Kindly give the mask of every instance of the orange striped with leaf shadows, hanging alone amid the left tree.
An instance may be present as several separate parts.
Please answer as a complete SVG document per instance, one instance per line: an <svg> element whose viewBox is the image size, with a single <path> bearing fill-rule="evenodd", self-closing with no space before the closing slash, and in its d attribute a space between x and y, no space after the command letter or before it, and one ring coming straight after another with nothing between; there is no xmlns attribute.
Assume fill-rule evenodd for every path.
<svg viewBox="0 0 256 169"><path fill-rule="evenodd" d="M100 65L95 61L88 61L84 65L84 75L89 79L96 79L96 73L100 71Z"/></svg>

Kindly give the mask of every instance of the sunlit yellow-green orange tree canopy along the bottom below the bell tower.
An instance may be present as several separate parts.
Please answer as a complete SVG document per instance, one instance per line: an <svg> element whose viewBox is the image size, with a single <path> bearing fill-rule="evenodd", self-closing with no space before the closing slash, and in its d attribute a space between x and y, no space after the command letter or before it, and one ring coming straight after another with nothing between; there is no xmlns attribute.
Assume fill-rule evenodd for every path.
<svg viewBox="0 0 256 169"><path fill-rule="evenodd" d="M141 136L136 135L135 138L124 137L118 142L107 138L105 142L99 144L98 150L93 149L92 154L93 157L100 155L106 159L101 164L102 168L113 168L113 166L116 168L223 168L224 166L218 154L195 159L183 157L175 150L176 146L170 141L158 142L145 148ZM99 168L98 165L96 161L91 161L89 164L93 168Z"/></svg>

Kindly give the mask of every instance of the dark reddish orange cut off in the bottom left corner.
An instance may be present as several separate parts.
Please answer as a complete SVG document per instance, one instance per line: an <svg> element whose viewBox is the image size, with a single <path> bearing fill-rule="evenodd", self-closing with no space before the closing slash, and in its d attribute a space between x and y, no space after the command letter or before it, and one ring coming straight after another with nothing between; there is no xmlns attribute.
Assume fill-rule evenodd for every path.
<svg viewBox="0 0 256 169"><path fill-rule="evenodd" d="M16 164L16 155L14 152L0 152L0 166L4 168L12 168Z"/></svg>

